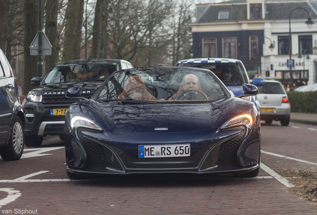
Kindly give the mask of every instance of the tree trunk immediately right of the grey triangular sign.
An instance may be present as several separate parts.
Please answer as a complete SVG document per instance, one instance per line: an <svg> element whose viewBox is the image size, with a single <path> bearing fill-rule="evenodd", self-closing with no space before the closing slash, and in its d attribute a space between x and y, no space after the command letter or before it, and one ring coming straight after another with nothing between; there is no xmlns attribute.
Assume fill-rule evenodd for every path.
<svg viewBox="0 0 317 215"><path fill-rule="evenodd" d="M57 12L58 0L47 0L45 5L45 34L52 45L51 55L44 56L43 77L49 72L51 67L58 61L58 41L57 41Z"/></svg>

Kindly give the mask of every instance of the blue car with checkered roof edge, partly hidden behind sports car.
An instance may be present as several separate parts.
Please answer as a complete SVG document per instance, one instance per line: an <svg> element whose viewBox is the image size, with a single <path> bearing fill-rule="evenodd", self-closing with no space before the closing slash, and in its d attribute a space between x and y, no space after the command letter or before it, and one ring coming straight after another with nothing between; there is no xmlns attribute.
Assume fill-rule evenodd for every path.
<svg viewBox="0 0 317 215"><path fill-rule="evenodd" d="M243 95L243 84L250 84L248 73L242 63L237 59L229 58L195 58L180 60L175 66L204 68L212 71L235 96ZM265 83L262 78L253 79L253 85L263 86ZM259 101L255 96L245 97L252 101L260 110Z"/></svg>

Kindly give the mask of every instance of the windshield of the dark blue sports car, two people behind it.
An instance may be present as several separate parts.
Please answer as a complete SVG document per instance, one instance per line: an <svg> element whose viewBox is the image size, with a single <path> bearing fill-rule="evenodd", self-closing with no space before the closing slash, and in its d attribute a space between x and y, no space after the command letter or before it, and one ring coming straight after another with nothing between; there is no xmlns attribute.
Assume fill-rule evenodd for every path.
<svg viewBox="0 0 317 215"><path fill-rule="evenodd" d="M122 70L104 85L97 100L155 102L217 101L227 98L214 74L190 68L157 67Z"/></svg>

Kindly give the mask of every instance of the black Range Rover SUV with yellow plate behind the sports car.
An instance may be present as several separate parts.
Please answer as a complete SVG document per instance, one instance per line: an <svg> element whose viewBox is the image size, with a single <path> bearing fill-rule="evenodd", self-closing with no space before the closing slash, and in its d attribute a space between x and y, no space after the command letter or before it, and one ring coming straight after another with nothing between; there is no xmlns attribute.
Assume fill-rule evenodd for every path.
<svg viewBox="0 0 317 215"><path fill-rule="evenodd" d="M67 98L66 91L82 87L82 97L90 98L110 74L133 68L125 60L92 59L59 62L46 77L34 77L31 90L22 102L25 114L25 145L39 146L46 135L59 135L64 140L67 108L78 98Z"/></svg>

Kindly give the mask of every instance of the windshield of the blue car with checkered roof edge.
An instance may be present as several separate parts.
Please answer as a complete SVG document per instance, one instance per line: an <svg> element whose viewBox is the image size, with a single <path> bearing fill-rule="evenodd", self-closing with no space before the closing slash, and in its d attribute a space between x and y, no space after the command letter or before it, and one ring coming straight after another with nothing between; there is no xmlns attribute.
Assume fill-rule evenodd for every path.
<svg viewBox="0 0 317 215"><path fill-rule="evenodd" d="M236 63L181 63L177 66L209 69L226 86L249 84L247 72L239 62Z"/></svg>

